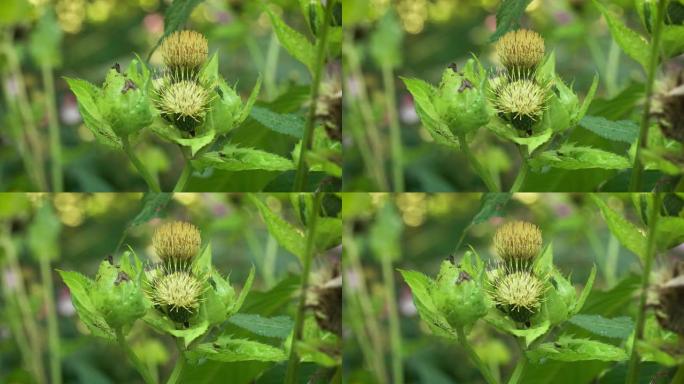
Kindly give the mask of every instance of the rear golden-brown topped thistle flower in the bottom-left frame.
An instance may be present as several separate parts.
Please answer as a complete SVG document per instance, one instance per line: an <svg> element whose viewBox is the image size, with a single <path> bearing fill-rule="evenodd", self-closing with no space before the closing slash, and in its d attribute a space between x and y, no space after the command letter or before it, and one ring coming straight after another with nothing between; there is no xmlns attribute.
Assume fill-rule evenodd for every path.
<svg viewBox="0 0 684 384"><path fill-rule="evenodd" d="M165 223L152 236L152 245L163 261L189 261L197 255L201 243L197 227L183 221Z"/></svg>

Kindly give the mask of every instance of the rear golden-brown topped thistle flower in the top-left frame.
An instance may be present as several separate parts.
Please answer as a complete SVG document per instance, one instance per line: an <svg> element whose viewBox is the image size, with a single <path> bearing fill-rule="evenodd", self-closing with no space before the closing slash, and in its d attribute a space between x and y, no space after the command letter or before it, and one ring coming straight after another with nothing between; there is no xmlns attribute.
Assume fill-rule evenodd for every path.
<svg viewBox="0 0 684 384"><path fill-rule="evenodd" d="M207 61L209 46L199 32L178 31L164 39L161 51L164 64L171 70L194 70Z"/></svg>

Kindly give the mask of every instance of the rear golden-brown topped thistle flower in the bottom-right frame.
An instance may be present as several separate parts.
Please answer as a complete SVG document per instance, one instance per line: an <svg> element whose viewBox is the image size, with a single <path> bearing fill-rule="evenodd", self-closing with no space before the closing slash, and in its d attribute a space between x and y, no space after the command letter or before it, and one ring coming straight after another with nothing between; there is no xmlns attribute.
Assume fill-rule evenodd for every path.
<svg viewBox="0 0 684 384"><path fill-rule="evenodd" d="M525 221L512 221L494 234L494 248L506 267L517 270L532 266L542 246L539 227Z"/></svg>

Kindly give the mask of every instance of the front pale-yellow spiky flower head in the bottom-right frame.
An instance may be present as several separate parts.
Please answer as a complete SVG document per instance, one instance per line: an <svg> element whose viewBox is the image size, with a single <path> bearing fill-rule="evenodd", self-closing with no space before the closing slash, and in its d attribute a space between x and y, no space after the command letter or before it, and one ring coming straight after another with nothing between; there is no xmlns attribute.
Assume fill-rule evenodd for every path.
<svg viewBox="0 0 684 384"><path fill-rule="evenodd" d="M499 276L492 285L497 307L519 323L526 323L537 312L545 290L544 281L530 272Z"/></svg>

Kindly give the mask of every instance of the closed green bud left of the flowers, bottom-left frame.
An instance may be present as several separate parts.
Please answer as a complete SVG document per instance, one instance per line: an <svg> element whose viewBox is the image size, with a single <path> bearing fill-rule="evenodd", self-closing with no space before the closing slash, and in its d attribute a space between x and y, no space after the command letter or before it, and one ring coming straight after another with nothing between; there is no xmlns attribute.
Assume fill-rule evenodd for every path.
<svg viewBox="0 0 684 384"><path fill-rule="evenodd" d="M90 295L95 308L114 329L130 325L145 315L143 290L135 277L128 276L109 260L100 264Z"/></svg>

